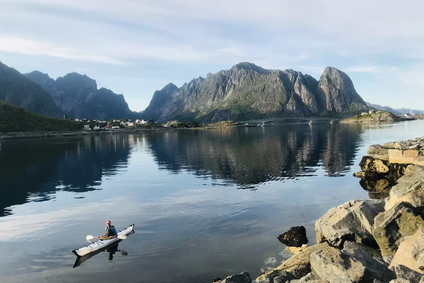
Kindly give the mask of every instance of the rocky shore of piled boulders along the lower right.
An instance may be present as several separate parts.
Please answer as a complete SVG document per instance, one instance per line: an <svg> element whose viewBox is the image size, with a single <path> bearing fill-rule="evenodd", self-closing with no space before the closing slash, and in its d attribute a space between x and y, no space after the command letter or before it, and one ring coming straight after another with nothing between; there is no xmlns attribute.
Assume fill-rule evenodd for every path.
<svg viewBox="0 0 424 283"><path fill-rule="evenodd" d="M387 180L387 197L331 208L315 224L313 246L301 227L280 235L297 246L286 248L293 256L255 280L242 272L214 282L424 283L423 165L424 138L370 146L356 175Z"/></svg>

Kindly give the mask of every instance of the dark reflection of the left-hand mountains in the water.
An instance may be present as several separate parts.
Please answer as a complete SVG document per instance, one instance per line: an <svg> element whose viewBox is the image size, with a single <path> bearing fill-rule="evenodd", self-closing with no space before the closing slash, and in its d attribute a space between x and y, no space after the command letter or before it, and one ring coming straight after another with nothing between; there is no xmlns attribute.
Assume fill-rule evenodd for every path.
<svg viewBox="0 0 424 283"><path fill-rule="evenodd" d="M83 193L95 190L103 176L126 166L130 136L2 142L0 151L0 216L7 207L46 201L57 190Z"/></svg>

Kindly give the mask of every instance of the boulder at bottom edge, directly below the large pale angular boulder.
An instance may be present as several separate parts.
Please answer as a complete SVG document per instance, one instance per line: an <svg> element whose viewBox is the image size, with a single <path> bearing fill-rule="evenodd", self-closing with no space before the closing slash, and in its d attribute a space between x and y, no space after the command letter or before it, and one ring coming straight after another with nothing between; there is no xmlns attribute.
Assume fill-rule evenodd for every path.
<svg viewBox="0 0 424 283"><path fill-rule="evenodd" d="M394 278L387 266L362 250L340 251L336 248L311 254L312 272L321 280L338 282L387 281Z"/></svg>

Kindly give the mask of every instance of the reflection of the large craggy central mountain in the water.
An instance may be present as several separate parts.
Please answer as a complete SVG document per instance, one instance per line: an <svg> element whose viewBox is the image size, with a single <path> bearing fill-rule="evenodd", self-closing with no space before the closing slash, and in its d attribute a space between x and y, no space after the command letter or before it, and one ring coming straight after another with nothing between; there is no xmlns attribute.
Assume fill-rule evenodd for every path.
<svg viewBox="0 0 424 283"><path fill-rule="evenodd" d="M240 187L270 180L313 175L343 176L353 165L360 125L286 125L237 130L174 131L148 139L162 169L236 183Z"/></svg>

